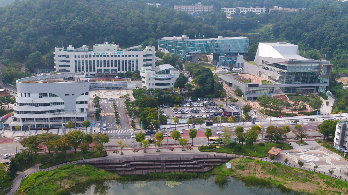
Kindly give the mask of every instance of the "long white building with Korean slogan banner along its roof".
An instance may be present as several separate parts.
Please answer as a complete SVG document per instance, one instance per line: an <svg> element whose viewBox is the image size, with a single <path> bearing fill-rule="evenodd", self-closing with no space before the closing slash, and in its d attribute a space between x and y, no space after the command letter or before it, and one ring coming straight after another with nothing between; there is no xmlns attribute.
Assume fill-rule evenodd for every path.
<svg viewBox="0 0 348 195"><path fill-rule="evenodd" d="M70 45L55 47L54 64L59 72L84 72L86 76L115 77L118 73L140 71L143 66L154 67L156 63L154 46L134 46L120 49L116 44L96 44L92 49L84 45L75 48Z"/></svg>

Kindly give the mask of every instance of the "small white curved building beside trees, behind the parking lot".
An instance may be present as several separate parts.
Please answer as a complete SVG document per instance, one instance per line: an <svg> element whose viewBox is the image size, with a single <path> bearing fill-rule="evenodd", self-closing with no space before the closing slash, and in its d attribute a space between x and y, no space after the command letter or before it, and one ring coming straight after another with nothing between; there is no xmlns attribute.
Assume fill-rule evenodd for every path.
<svg viewBox="0 0 348 195"><path fill-rule="evenodd" d="M170 64L163 64L152 67L143 67L140 71L143 87L148 89L169 89L174 87L175 81L179 78L180 72Z"/></svg>

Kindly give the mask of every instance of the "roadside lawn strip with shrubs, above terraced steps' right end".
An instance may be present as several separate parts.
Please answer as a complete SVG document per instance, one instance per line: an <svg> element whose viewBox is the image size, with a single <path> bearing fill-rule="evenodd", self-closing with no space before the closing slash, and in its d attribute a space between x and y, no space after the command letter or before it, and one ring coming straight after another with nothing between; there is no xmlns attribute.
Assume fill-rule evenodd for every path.
<svg viewBox="0 0 348 195"><path fill-rule="evenodd" d="M199 151L204 151L204 152L221 152L221 153L228 153L228 154L239 154L239 155L245 155L245 156L255 156L255 151L256 151L256 157L267 157L268 156L268 151L272 147L278 147L281 149L292 149L290 145L287 143L264 143L264 146L261 146L259 144L254 144L252 146L248 146L245 143L241 147L241 149L238 149L236 146L229 146L228 144L226 145L225 149L224 146L220 146L219 149L215 149L216 146L218 145L209 145L209 146L201 146L199 148Z"/></svg>

